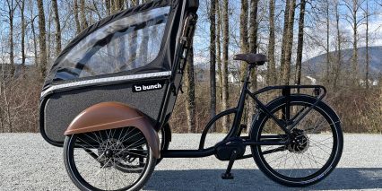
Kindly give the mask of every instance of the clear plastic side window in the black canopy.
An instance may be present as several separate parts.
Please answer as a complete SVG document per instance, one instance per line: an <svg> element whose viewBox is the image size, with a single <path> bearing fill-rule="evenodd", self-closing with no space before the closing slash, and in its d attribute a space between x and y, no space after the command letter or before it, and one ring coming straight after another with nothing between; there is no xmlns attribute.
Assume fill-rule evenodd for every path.
<svg viewBox="0 0 382 191"><path fill-rule="evenodd" d="M115 74L150 64L159 54L169 7L111 22L82 39L59 63L55 80Z"/></svg>

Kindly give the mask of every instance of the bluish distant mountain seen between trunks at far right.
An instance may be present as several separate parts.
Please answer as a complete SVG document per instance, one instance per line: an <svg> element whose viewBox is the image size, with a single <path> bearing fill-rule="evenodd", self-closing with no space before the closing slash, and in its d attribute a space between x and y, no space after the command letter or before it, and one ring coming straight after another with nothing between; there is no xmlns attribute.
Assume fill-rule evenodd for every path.
<svg viewBox="0 0 382 191"><path fill-rule="evenodd" d="M330 52L331 59L336 59L336 52ZM352 69L352 48L342 50L342 71ZM335 62L335 61L334 61ZM365 73L366 48L358 48L358 64L360 73ZM326 54L315 56L302 63L303 74L309 76L322 76L326 74ZM382 46L369 47L369 74L370 78L377 78L382 73Z"/></svg>

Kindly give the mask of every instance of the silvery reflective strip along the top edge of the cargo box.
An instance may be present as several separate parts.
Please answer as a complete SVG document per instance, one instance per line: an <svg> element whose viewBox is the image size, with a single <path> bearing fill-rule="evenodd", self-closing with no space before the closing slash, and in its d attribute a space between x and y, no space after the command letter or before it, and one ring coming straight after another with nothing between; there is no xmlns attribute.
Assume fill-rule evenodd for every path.
<svg viewBox="0 0 382 191"><path fill-rule="evenodd" d="M171 71L169 72L161 72L161 73L149 73L149 74L135 74L135 75L125 75L125 76L117 76L117 77L109 77L109 78L100 78L94 80L87 80L81 82L69 82L60 85L54 85L48 88L46 91L41 92L41 98L48 94L50 91L57 91L65 88L78 87L84 85L93 85L103 82L119 82L119 81L128 81L128 80L138 80L138 79L146 79L146 78L155 78L155 77L165 77L170 76Z"/></svg>

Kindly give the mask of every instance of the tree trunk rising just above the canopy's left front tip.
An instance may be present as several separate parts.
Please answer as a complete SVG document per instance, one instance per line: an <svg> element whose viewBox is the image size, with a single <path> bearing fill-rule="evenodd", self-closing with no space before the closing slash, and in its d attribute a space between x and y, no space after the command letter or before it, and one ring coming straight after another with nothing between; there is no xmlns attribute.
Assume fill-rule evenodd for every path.
<svg viewBox="0 0 382 191"><path fill-rule="evenodd" d="M37 0L39 8L39 73L41 80L47 74L47 44L43 0Z"/></svg>

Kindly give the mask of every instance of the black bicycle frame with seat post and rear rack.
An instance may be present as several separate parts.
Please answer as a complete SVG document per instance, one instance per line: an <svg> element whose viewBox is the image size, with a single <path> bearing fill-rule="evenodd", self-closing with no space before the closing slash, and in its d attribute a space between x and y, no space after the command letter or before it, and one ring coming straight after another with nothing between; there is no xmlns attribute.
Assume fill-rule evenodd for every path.
<svg viewBox="0 0 382 191"><path fill-rule="evenodd" d="M244 106L246 102L247 95L249 95L250 98L256 101L256 109L257 109L257 115L259 112L265 113L268 117L271 117L273 121L277 124L277 126L280 126L282 128L283 132L285 133L285 136L288 136L291 134L291 129L299 124L300 120L305 117L308 112L315 108L317 104L323 100L326 96L326 88L321 85L282 85L282 86L269 86L265 87L263 89L260 89L256 92L251 92L248 90L249 85L249 77L252 72L252 69L255 68L256 65L248 65L247 66L247 75L243 82L243 86L240 93L239 103L238 106L234 109L228 109L220 114L213 117L210 122L204 127L204 131L201 135L200 143L199 143L199 149L198 150L168 150L161 152L161 157L163 158L198 158L198 157L207 157L211 156L215 153L215 147L210 147L204 149L204 143L206 135L208 134L209 130L213 127L213 124L219 120L221 117L226 117L230 114L235 114L232 126L230 128L230 132L228 135L221 141L229 141L232 137L239 137L241 134L241 128L240 128L240 122L241 118L243 116ZM290 101L291 101L291 90L297 89L298 92L300 92L300 89L314 89L315 96L317 97L317 101L310 106L308 109L304 108L301 109L294 117L291 118L290 113ZM272 112L265 106L263 102L258 100L257 95L264 93L265 91L273 91L273 90L282 90L282 97L285 98L285 107L282 109L282 120L275 117ZM272 101L271 101L272 102ZM248 145L287 145L288 141L282 141L284 140L282 138L282 135L264 135L262 138L264 138L267 141L261 141L261 142L255 142L253 140L250 140L247 136L241 136L244 141L243 143ZM273 152L277 152L278 150L282 151L282 149L275 149ZM251 157L251 155L245 155L240 157L239 159L245 159Z"/></svg>

